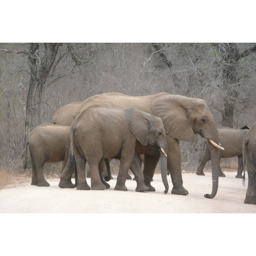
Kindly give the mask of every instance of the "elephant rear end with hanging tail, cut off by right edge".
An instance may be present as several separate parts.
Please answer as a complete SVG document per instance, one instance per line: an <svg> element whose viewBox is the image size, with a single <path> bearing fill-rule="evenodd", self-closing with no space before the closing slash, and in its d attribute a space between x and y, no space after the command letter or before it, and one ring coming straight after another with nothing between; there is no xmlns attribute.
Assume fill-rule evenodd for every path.
<svg viewBox="0 0 256 256"><path fill-rule="evenodd" d="M244 180L245 166L248 174L248 187L244 204L256 204L256 122L251 126L243 141ZM243 182L244 182L243 180Z"/></svg>

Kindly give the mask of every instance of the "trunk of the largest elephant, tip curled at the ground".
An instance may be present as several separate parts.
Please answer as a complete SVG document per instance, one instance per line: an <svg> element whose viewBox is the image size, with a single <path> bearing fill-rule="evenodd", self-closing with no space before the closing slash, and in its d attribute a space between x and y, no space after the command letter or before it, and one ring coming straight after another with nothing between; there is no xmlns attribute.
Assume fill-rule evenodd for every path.
<svg viewBox="0 0 256 256"><path fill-rule="evenodd" d="M218 142L218 140L215 140ZM207 141L212 162L212 194L205 194L206 198L214 198L218 191L218 174L220 170L219 149Z"/></svg>

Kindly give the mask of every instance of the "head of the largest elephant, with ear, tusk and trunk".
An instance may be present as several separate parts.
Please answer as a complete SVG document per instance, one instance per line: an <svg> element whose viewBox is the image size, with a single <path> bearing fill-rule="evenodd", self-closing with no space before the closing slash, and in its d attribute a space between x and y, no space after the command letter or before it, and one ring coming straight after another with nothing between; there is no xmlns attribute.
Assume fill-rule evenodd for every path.
<svg viewBox="0 0 256 256"><path fill-rule="evenodd" d="M151 111L159 116L166 131L177 140L194 141L195 134L208 139L212 160L212 194L218 191L219 146L218 130L207 104L202 99L193 99L180 95L162 95L151 101Z"/></svg>

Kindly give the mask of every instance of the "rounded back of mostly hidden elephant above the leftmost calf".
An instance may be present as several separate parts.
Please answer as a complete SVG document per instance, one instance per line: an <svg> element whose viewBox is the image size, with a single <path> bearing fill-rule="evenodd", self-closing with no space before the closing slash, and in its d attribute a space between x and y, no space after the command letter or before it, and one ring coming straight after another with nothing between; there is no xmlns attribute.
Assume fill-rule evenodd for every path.
<svg viewBox="0 0 256 256"><path fill-rule="evenodd" d="M73 114L78 110L83 102L73 102L59 108L52 117L51 123L55 125L70 126L73 122Z"/></svg>

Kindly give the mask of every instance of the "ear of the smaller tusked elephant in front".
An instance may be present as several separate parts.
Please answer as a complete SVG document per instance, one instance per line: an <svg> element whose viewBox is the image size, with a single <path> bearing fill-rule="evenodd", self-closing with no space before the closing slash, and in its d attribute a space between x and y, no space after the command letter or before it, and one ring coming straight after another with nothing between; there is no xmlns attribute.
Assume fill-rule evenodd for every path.
<svg viewBox="0 0 256 256"><path fill-rule="evenodd" d="M129 108L126 111L129 129L142 145L148 144L148 132L151 128L151 122L147 118L148 116L150 114L137 110L136 108Z"/></svg>

